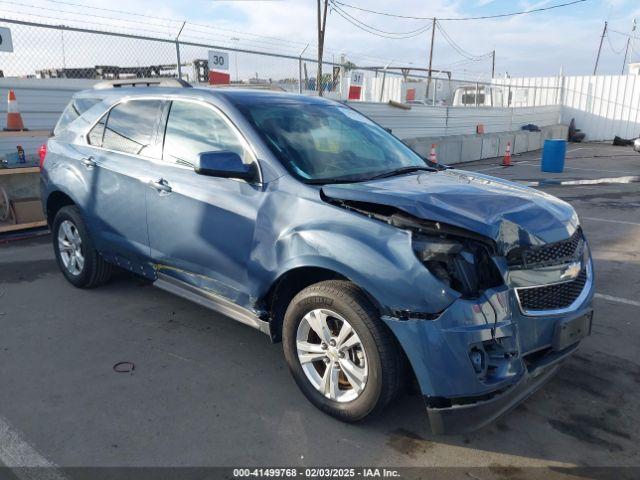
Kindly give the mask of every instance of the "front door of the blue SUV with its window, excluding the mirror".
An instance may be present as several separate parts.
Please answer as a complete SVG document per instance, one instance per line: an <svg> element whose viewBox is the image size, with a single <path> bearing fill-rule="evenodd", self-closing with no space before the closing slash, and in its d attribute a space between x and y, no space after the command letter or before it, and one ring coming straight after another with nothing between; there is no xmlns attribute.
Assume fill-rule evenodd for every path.
<svg viewBox="0 0 640 480"><path fill-rule="evenodd" d="M264 192L243 180L195 173L198 155L218 150L255 162L243 137L215 107L173 101L163 162L156 184L146 191L151 255L160 273L249 306L247 262Z"/></svg>

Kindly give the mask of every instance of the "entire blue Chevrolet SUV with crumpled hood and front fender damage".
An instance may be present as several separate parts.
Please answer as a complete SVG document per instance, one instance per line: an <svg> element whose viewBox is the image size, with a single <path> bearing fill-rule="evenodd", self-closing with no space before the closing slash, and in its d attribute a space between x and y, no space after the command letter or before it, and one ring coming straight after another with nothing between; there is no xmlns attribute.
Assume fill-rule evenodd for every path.
<svg viewBox="0 0 640 480"><path fill-rule="evenodd" d="M98 84L64 111L41 177L69 282L119 267L257 328L343 421L414 383L435 432L479 428L591 331L569 204L430 163L331 100Z"/></svg>

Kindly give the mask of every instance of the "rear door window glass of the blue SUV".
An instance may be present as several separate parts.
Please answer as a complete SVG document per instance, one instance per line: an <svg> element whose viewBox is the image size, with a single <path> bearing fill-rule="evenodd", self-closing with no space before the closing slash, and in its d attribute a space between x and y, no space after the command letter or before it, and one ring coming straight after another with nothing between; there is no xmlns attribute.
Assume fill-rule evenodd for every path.
<svg viewBox="0 0 640 480"><path fill-rule="evenodd" d="M156 144L156 126L160 115L160 100L130 100L111 109L104 125L102 146L123 153L159 158ZM100 122L89 133L100 134ZM97 145L97 144L95 144Z"/></svg>

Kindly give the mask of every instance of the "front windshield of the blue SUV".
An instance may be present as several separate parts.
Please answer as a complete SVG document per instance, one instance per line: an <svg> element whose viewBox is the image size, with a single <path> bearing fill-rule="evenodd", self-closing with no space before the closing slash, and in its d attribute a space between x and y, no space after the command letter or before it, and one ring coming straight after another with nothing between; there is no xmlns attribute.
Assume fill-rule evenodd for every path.
<svg viewBox="0 0 640 480"><path fill-rule="evenodd" d="M280 162L308 183L362 181L426 163L400 140L341 105L244 104L238 108Z"/></svg>

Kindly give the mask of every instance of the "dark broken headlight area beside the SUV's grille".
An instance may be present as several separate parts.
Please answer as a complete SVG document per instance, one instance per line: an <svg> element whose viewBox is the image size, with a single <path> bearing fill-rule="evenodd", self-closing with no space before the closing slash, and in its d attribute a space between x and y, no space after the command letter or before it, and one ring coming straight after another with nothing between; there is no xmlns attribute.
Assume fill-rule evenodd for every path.
<svg viewBox="0 0 640 480"><path fill-rule="evenodd" d="M487 248L479 242L414 233L412 245L424 266L463 297L476 298L503 283Z"/></svg>

